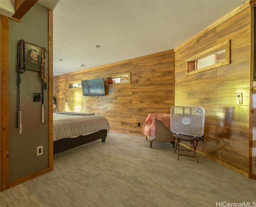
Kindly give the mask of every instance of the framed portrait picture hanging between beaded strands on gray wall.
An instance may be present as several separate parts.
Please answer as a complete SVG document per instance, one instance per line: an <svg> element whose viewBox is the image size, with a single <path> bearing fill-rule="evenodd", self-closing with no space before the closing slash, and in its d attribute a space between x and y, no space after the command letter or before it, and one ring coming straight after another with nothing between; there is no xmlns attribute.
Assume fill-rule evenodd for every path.
<svg viewBox="0 0 256 207"><path fill-rule="evenodd" d="M26 69L40 72L42 47L25 43Z"/></svg>

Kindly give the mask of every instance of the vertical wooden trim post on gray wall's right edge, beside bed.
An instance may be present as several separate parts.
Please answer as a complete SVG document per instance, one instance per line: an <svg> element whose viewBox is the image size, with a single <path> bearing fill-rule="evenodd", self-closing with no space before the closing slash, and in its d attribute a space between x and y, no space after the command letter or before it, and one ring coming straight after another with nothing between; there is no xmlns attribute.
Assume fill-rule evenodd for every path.
<svg viewBox="0 0 256 207"><path fill-rule="evenodd" d="M49 9L49 170L53 170L53 12Z"/></svg>

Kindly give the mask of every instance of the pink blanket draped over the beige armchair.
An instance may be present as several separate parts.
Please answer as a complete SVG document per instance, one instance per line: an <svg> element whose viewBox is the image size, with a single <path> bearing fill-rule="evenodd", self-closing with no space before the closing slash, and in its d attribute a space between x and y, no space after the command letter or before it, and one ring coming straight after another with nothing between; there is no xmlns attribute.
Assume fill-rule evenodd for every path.
<svg viewBox="0 0 256 207"><path fill-rule="evenodd" d="M164 123L169 130L171 130L170 126L170 114L148 114L146 118L146 122L142 126L142 133L146 136L155 136L156 134L156 119L160 120Z"/></svg>

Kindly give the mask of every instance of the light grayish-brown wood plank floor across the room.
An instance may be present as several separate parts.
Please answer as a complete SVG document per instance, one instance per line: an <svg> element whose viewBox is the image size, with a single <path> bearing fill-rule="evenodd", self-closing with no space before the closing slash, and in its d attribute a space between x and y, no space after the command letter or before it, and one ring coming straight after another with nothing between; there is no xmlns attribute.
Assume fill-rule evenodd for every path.
<svg viewBox="0 0 256 207"><path fill-rule="evenodd" d="M54 170L0 193L1 207L216 207L256 202L256 180L170 143L110 132L54 155ZM255 203L256 204L256 203ZM219 205L220 206L220 205ZM255 206L255 205L254 205Z"/></svg>

